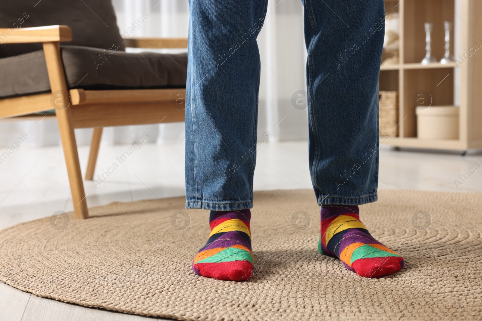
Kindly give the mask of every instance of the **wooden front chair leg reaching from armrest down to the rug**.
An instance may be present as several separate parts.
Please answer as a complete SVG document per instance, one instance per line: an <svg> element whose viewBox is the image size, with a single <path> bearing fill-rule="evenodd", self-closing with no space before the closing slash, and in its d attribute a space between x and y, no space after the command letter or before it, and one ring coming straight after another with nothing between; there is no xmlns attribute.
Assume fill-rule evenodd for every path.
<svg viewBox="0 0 482 321"><path fill-rule="evenodd" d="M88 218L89 211L85 200L82 173L80 172L79 154L77 153L77 142L75 141L72 114L70 112L70 98L67 93L64 66L60 55L58 42L44 42L43 51L47 63L50 87L59 125L60 138L64 148L65 162L67 164L70 192L74 203L75 216L77 218Z"/></svg>

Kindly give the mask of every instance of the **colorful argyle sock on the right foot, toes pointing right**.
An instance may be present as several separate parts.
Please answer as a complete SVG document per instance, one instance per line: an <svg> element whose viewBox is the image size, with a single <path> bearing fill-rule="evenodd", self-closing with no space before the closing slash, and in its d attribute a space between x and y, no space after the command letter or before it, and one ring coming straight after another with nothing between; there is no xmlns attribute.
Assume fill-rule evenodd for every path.
<svg viewBox="0 0 482 321"><path fill-rule="evenodd" d="M321 208L321 254L338 257L345 267L367 278L378 278L403 267L403 257L376 241L360 221L358 206Z"/></svg>

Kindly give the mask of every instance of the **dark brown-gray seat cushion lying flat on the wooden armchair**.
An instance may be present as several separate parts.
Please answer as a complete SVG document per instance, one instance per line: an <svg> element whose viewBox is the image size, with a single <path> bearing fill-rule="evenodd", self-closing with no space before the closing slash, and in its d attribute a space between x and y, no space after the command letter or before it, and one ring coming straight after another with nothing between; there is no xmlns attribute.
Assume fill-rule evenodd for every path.
<svg viewBox="0 0 482 321"><path fill-rule="evenodd" d="M186 87L187 53L127 53L80 46L61 50L69 89ZM42 50L0 59L0 97L49 90Z"/></svg>

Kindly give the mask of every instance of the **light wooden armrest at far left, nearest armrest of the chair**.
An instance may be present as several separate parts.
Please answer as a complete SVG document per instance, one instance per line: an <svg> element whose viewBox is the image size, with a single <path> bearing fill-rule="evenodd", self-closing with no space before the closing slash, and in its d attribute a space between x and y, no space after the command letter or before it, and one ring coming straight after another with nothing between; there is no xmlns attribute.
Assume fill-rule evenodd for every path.
<svg viewBox="0 0 482 321"><path fill-rule="evenodd" d="M69 26L42 26L32 28L0 28L0 44L27 42L71 41Z"/></svg>

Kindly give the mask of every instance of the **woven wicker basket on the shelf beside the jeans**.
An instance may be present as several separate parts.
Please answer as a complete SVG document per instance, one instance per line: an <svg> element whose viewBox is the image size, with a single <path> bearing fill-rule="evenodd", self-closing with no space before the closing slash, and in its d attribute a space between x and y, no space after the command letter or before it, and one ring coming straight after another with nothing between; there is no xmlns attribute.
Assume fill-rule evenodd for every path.
<svg viewBox="0 0 482 321"><path fill-rule="evenodd" d="M380 136L398 136L398 91L380 90Z"/></svg>

